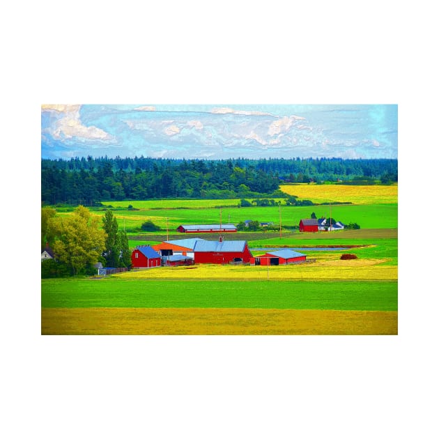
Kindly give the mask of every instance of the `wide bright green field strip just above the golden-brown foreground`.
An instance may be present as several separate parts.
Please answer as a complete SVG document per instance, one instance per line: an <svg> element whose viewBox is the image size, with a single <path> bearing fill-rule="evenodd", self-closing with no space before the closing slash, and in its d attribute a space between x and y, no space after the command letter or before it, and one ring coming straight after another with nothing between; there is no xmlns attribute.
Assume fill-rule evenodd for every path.
<svg viewBox="0 0 439 439"><path fill-rule="evenodd" d="M254 308L397 311L397 282L43 279L43 308Z"/></svg>

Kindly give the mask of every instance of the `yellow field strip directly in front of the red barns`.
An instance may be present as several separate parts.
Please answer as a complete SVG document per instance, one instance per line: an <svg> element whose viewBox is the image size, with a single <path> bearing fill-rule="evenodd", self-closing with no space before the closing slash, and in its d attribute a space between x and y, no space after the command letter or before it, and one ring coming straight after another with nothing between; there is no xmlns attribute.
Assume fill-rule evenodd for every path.
<svg viewBox="0 0 439 439"><path fill-rule="evenodd" d="M396 265L380 265L386 259L317 259L301 265L192 265L162 267L114 275L121 279L178 279L178 280L397 280Z"/></svg>

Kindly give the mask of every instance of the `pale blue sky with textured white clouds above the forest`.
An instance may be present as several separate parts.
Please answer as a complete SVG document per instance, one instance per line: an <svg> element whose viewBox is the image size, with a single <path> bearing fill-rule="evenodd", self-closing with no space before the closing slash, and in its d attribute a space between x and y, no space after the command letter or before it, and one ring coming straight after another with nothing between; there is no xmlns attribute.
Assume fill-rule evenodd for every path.
<svg viewBox="0 0 439 439"><path fill-rule="evenodd" d="M397 105L42 105L41 155L397 158Z"/></svg>

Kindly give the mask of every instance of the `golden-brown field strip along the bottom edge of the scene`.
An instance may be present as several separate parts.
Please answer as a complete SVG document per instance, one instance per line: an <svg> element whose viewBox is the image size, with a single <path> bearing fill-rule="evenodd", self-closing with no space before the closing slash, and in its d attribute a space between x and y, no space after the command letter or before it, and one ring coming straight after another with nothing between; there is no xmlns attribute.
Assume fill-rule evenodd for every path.
<svg viewBox="0 0 439 439"><path fill-rule="evenodd" d="M398 334L397 311L43 308L42 334Z"/></svg>

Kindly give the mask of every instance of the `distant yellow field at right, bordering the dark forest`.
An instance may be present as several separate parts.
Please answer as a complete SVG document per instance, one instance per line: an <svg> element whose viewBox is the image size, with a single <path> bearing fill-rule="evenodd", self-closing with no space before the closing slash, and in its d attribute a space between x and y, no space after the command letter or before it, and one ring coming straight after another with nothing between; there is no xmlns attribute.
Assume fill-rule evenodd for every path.
<svg viewBox="0 0 439 439"><path fill-rule="evenodd" d="M389 204L398 202L398 185L348 186L348 185L281 185L280 190L299 199L315 203L334 201L353 204Z"/></svg>

